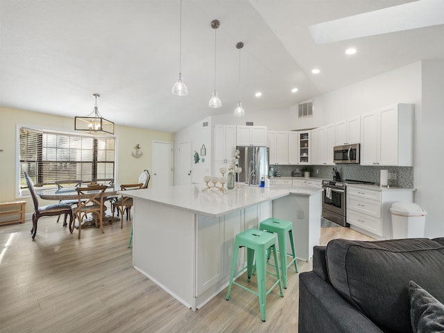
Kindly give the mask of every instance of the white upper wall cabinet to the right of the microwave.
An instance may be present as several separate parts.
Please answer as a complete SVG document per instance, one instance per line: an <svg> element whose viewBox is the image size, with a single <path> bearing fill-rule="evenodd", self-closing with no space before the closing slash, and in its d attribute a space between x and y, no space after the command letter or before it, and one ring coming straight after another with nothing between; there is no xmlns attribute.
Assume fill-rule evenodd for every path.
<svg viewBox="0 0 444 333"><path fill-rule="evenodd" d="M413 104L396 104L361 116L361 165L413 165Z"/></svg>

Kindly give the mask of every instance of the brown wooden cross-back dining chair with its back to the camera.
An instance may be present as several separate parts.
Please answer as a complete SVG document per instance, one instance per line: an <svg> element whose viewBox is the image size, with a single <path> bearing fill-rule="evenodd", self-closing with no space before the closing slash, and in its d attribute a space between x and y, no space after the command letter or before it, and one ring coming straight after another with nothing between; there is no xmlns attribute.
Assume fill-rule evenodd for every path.
<svg viewBox="0 0 444 333"><path fill-rule="evenodd" d="M77 187L78 203L74 210L74 221L71 228L69 224L69 230L74 231L75 221L78 220L78 239L82 232L82 222L88 213L92 213L94 218L94 224L97 228L101 229L103 233L103 214L105 214L106 207L103 205L103 197L105 190L108 189L106 185ZM99 224L98 224L99 223Z"/></svg>

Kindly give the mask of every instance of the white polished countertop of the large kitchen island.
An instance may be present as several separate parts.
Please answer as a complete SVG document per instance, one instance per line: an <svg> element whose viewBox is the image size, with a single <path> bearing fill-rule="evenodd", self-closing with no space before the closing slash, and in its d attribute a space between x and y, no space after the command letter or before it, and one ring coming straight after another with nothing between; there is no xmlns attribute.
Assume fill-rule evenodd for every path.
<svg viewBox="0 0 444 333"><path fill-rule="evenodd" d="M119 191L118 194L149 200L161 205L170 205L180 210L212 217L223 216L246 207L258 205L269 200L288 196L312 196L321 193L322 189L314 187L249 187L231 189L222 193L205 189L205 184L171 186L161 189L136 189Z"/></svg>

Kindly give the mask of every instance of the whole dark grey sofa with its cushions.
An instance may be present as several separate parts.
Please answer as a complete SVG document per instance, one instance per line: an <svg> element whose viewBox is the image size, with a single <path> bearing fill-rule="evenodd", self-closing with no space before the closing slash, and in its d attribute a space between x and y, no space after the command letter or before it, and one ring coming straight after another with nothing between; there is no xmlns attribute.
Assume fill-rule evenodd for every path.
<svg viewBox="0 0 444 333"><path fill-rule="evenodd" d="M444 237L315 246L299 333L444 332Z"/></svg>

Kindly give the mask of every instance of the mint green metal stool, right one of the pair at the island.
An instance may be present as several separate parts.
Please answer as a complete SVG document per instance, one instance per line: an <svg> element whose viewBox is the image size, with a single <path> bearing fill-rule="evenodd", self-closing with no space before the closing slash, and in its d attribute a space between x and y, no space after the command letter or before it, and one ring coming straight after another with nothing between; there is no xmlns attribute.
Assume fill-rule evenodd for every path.
<svg viewBox="0 0 444 333"><path fill-rule="evenodd" d="M280 255L280 268L282 270L282 280L284 288L287 288L287 268L294 262L296 272L298 272L298 262L296 260L296 250L294 249L293 239L293 223L287 220L274 219L273 217L262 221L259 224L259 229L266 232L278 234L279 255ZM287 253L287 232L290 237L291 253ZM287 256L292 255L293 259L287 264ZM268 254L268 259L270 255Z"/></svg>

